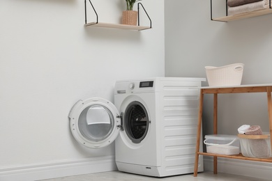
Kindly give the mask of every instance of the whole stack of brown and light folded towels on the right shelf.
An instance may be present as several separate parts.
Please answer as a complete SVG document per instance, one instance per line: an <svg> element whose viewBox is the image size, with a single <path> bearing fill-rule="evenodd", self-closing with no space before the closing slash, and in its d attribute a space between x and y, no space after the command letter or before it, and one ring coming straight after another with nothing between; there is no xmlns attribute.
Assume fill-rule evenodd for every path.
<svg viewBox="0 0 272 181"><path fill-rule="evenodd" d="M228 15L237 15L269 8L269 0L229 0L227 5Z"/></svg>

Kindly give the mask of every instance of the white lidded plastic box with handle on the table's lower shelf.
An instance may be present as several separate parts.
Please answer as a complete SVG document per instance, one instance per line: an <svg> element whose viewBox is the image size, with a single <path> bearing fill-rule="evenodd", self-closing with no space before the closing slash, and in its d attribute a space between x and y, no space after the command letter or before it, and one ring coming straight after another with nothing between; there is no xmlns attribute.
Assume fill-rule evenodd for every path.
<svg viewBox="0 0 272 181"><path fill-rule="evenodd" d="M204 144L206 151L219 155L237 155L240 152L238 136L226 134L206 135Z"/></svg>

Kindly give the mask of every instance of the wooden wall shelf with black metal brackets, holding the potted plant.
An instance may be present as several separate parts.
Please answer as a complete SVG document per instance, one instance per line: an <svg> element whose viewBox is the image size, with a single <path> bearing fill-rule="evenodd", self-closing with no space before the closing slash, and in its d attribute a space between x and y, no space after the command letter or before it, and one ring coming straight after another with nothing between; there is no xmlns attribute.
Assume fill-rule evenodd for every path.
<svg viewBox="0 0 272 181"><path fill-rule="evenodd" d="M89 2L91 3L91 0L89 0ZM91 7L93 8L94 13L96 13L96 22L87 23L86 0L84 0L84 3L85 3L85 26L96 26L96 27L112 28L112 29L129 29L129 30L137 30L137 31L144 30L144 29L151 29L151 19L149 15L146 13L146 10L144 9L144 6L142 5L142 3L137 4L138 26L98 22L98 14L96 13L96 9L93 7L93 3L91 3ZM139 5L142 6L142 9L146 13L146 16L149 18L150 26L139 26Z"/></svg>

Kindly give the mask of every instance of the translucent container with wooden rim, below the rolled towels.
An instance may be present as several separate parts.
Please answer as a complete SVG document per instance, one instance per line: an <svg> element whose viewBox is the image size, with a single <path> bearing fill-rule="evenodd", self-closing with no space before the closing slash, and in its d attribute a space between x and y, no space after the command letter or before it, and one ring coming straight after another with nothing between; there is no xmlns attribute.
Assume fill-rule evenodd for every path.
<svg viewBox="0 0 272 181"><path fill-rule="evenodd" d="M244 157L266 158L272 157L270 135L238 134L241 152Z"/></svg>

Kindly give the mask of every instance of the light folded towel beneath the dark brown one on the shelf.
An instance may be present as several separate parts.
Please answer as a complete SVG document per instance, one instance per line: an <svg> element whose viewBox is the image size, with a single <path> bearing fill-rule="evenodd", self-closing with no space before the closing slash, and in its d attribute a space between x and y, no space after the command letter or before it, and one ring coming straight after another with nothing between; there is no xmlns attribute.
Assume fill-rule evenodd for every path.
<svg viewBox="0 0 272 181"><path fill-rule="evenodd" d="M272 4L272 1L271 1ZM247 3L242 6L228 7L228 15L236 15L240 13L248 13L255 10L269 8L269 0L258 1L255 3Z"/></svg>

